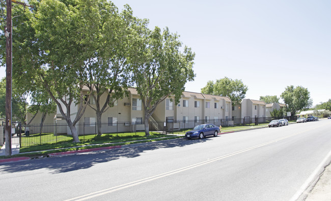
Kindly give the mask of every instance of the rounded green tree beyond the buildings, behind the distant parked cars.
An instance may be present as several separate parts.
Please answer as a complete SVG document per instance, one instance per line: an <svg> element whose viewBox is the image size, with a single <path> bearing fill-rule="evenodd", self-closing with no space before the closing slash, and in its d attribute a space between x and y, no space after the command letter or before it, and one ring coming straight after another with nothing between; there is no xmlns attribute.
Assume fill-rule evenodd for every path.
<svg viewBox="0 0 331 201"><path fill-rule="evenodd" d="M295 116L300 110L310 108L313 104L310 92L302 86L295 88L293 85L287 86L281 94L281 98L283 98L286 104L287 112L291 112L291 116Z"/></svg>

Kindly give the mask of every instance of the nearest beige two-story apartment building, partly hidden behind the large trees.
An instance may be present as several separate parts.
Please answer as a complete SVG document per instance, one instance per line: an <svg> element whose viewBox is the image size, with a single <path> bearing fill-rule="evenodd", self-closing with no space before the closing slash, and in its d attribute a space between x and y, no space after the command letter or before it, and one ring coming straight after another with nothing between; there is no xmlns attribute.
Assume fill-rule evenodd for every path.
<svg viewBox="0 0 331 201"><path fill-rule="evenodd" d="M101 96L100 105L105 102L106 94ZM175 105L172 97L166 98L155 109L152 114L151 121L158 124L157 128L162 128L165 123L171 128L194 127L202 123L214 123L217 126L221 125L221 121L226 121L229 124L229 117L231 117L231 99L229 97L208 95L195 92L184 91L180 102ZM77 124L84 124L84 133L95 131L96 112L92 107L95 107L93 98L90 98L90 106L85 110L85 113L80 118ZM109 130L110 127L117 126L118 122L125 122L126 129L130 130L133 124L135 129L139 126L140 130L144 130L144 108L140 95L135 88L128 88L128 96L118 99L114 106L108 108L102 114L101 122L103 130ZM77 114L77 106L72 105L71 119L74 119ZM66 112L66 111L64 111ZM59 108L57 114L53 115L54 123L66 123L61 118ZM36 119L36 123L40 122ZM231 122L230 122L231 124ZM156 129L156 127L154 129ZM152 128L152 126L150 126ZM77 130L82 128L77 128Z"/></svg>

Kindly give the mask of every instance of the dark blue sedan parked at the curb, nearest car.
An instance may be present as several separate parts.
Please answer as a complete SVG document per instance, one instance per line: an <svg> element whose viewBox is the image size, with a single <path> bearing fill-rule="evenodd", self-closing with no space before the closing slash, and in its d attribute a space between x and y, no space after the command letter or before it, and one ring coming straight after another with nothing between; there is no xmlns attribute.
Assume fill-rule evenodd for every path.
<svg viewBox="0 0 331 201"><path fill-rule="evenodd" d="M192 130L185 133L185 138L204 138L206 136L216 137L219 133L219 127L214 124L200 124L194 127Z"/></svg>

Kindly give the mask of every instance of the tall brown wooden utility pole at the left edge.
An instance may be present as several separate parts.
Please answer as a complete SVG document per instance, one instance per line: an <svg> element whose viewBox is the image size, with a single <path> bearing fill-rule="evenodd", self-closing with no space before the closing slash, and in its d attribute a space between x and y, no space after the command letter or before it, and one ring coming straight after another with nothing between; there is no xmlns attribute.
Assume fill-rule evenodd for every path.
<svg viewBox="0 0 331 201"><path fill-rule="evenodd" d="M6 150L5 155L12 155L12 48L13 48L13 33L12 33L12 2L23 6L31 7L29 4L17 2L16 0L6 0L7 17L6 17L6 124L5 138Z"/></svg>

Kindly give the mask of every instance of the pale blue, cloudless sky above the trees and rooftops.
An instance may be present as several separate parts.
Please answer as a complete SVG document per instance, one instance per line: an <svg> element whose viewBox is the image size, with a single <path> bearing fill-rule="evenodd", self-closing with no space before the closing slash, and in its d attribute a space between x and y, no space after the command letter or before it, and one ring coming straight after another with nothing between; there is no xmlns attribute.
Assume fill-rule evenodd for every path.
<svg viewBox="0 0 331 201"><path fill-rule="evenodd" d="M120 11L128 4L134 16L149 19L150 29L177 32L196 53L195 81L186 91L201 92L208 81L228 77L249 88L245 98L280 97L290 85L307 88L313 105L331 98L331 1L112 2Z"/></svg>

